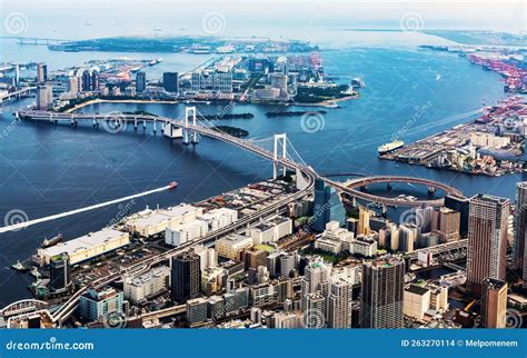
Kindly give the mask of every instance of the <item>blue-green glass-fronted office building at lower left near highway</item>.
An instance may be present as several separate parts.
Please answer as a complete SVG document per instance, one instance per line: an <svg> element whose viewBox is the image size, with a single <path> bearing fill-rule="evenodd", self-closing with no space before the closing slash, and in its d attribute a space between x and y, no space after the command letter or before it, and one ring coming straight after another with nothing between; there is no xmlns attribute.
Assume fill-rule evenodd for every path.
<svg viewBox="0 0 527 358"><path fill-rule="evenodd" d="M122 291L113 287L90 288L80 296L79 316L84 320L101 320L108 315L122 312Z"/></svg>

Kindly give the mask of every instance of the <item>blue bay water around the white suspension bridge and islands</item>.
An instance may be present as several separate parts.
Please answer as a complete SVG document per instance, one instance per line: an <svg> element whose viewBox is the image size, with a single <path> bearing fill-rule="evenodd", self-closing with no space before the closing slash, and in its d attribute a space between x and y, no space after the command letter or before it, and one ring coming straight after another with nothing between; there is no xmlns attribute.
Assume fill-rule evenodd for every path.
<svg viewBox="0 0 527 358"><path fill-rule="evenodd" d="M23 61L46 60L51 68L60 68L117 54L57 53L41 47L23 47L19 52L9 52L9 60L18 56ZM151 69L152 78L167 69L189 70L205 60L188 54L133 57L163 57L162 67ZM222 120L221 125L247 129L255 139L287 132L302 159L321 173L409 175L450 183L466 196L484 191L508 198L514 198L515 183L526 180L521 175L473 177L377 159L377 147L390 141L394 132L408 122L409 130L401 137L406 142L474 118L467 113L479 109L483 99L494 103L504 98L497 74L455 54L415 47L342 47L324 51L322 58L331 77L338 77L340 82L360 77L367 87L359 99L342 102L342 108L325 109L327 113L319 131L304 131L300 117L267 118L266 111L276 110L275 106L235 105L232 112L251 112L255 118ZM130 128L110 135L89 126L14 125L12 108L28 106L32 100L10 103L0 119L0 133L4 133L0 140L0 218L12 209L21 209L33 219L158 188L171 180L179 182L176 191L136 200L132 211L138 211L146 205L169 206L205 199L271 176L268 162L206 138L193 150L159 133L152 136L150 130L135 133ZM426 110L412 120L424 107ZM101 103L82 109L84 112L112 110L146 110L181 118L183 106ZM223 108L202 105L198 110L216 113ZM118 210L117 206L109 207L1 235L0 306L29 296L26 286L30 278L9 270L9 266L32 255L44 236L61 231L66 238L74 238L98 230Z"/></svg>

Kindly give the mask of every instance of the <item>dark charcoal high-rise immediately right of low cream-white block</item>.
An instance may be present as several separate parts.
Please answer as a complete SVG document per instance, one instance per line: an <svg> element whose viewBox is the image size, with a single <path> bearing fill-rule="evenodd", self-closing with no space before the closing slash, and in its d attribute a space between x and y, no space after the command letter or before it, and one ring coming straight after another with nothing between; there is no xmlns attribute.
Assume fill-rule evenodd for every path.
<svg viewBox="0 0 527 358"><path fill-rule="evenodd" d="M187 251L172 258L171 288L176 301L198 297L201 284L199 256Z"/></svg>

